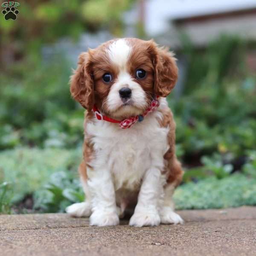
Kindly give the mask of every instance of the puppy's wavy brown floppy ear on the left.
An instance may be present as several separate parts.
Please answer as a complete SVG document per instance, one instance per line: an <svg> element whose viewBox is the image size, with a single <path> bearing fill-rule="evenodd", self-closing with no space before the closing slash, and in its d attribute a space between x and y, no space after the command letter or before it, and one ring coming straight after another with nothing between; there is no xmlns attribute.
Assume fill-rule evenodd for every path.
<svg viewBox="0 0 256 256"><path fill-rule="evenodd" d="M87 52L79 55L78 67L70 77L70 92L77 102L87 110L91 110L94 104L94 86L88 59Z"/></svg>

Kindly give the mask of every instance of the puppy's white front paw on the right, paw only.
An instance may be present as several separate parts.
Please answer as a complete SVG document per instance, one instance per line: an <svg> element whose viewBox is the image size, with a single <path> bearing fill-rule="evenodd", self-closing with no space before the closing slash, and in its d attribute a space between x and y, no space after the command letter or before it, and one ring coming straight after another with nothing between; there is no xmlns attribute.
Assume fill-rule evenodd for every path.
<svg viewBox="0 0 256 256"><path fill-rule="evenodd" d="M140 211L134 212L131 216L129 225L135 227L158 226L160 224L160 216L157 211Z"/></svg>

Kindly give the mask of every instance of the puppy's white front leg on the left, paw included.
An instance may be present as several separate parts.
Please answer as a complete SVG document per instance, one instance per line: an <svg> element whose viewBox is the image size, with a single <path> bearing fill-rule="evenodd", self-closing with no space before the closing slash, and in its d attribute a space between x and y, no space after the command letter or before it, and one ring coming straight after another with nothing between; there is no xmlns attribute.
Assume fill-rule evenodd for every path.
<svg viewBox="0 0 256 256"><path fill-rule="evenodd" d="M99 166L100 167L100 166ZM91 193L92 215L90 225L114 226L119 224L116 196L111 172L105 166L99 169L87 168L87 184Z"/></svg>

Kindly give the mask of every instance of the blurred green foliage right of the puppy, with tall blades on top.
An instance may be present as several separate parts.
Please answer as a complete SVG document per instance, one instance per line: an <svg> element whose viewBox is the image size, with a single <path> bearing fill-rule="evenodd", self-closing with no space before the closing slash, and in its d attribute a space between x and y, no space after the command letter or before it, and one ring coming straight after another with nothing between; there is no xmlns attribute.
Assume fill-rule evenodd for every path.
<svg viewBox="0 0 256 256"><path fill-rule="evenodd" d="M233 159L256 145L256 77L245 72L247 44L221 36L204 52L184 39L188 60L184 95L169 104L177 122L177 143L185 157L217 151Z"/></svg>

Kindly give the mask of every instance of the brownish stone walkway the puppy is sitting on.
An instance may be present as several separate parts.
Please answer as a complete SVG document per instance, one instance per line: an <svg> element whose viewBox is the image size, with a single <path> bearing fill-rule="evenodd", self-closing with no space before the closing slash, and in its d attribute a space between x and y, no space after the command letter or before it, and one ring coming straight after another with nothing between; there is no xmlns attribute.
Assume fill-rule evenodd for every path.
<svg viewBox="0 0 256 256"><path fill-rule="evenodd" d="M256 256L256 207L178 212L183 225L90 227L66 214L0 215L2 256Z"/></svg>

